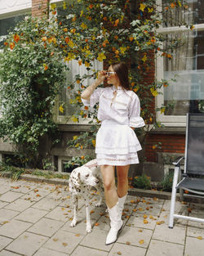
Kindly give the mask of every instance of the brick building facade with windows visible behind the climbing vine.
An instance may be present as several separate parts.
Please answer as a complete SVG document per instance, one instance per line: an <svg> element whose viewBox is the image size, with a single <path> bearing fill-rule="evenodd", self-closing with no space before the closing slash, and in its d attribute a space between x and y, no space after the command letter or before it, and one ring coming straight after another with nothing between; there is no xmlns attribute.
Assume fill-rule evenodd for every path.
<svg viewBox="0 0 204 256"><path fill-rule="evenodd" d="M63 1L51 0L50 2L60 4ZM169 4L168 0L157 0L157 2L161 7ZM155 112L157 121L165 127L149 132L144 142L144 150L140 154L143 158L142 164L131 168L131 176L146 173L152 177L153 181L162 180L164 174L171 169L171 160L176 155L184 155L186 113L204 112L204 2L187 0L187 3L188 12L176 13L172 10L171 15L176 16L175 23L169 24L166 21L166 24L160 28L160 32L166 34L166 44L170 44L174 38L182 38L182 35L185 41L182 47L173 52L172 60L153 56L153 67L146 75L145 81L151 84L155 77L157 80L171 79L169 86L162 88L162 93L155 98L153 111L161 106L169 106L169 108L162 113ZM47 11L48 4L49 0L0 0L0 45L7 30L16 22L24 19L24 16L28 14L41 16ZM180 26L180 19L185 19L188 24L192 25L192 28L186 29ZM74 61L69 65L69 80L74 74L85 72L78 70L78 65L74 65ZM96 68L100 68L100 65L95 61ZM91 81L87 81L88 83ZM58 105L60 105L60 100L69 101L69 93L61 92ZM51 155L55 167L63 171L64 162L70 156L87 154L87 150L84 152L68 149L66 141L78 132L89 131L90 126L82 122L76 124L70 121L69 117L74 112L72 106L67 106L64 113L60 113L58 109L57 106L55 122L59 124L62 142L60 146L52 149ZM2 155L12 150L11 145L0 143ZM94 156L93 150L90 150L89 154Z"/></svg>

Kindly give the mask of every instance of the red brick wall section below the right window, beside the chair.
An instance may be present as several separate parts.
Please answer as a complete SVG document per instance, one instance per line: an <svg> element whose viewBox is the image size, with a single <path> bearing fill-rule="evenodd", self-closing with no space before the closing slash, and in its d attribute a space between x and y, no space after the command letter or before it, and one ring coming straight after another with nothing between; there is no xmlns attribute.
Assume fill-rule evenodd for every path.
<svg viewBox="0 0 204 256"><path fill-rule="evenodd" d="M158 144L161 142L161 145ZM147 162L157 162L157 152L184 154L184 134L149 134L145 143Z"/></svg>

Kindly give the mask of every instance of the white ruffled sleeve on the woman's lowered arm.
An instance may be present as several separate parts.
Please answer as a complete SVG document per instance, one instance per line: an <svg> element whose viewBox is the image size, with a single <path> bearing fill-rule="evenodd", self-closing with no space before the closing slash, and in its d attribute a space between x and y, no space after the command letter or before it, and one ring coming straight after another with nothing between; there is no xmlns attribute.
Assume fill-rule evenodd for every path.
<svg viewBox="0 0 204 256"><path fill-rule="evenodd" d="M145 125L144 119L140 117L140 100L135 93L132 94L131 104L129 106L129 120L131 127L140 128Z"/></svg>

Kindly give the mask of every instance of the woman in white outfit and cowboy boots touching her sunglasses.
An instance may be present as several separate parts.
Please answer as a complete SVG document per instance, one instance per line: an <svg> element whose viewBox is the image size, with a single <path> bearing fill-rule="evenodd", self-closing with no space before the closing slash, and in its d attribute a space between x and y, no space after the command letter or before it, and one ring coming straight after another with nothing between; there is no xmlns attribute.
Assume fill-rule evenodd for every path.
<svg viewBox="0 0 204 256"><path fill-rule="evenodd" d="M97 88L107 78L113 86ZM95 89L97 88L97 89ZM104 195L109 209L110 231L106 245L117 240L122 229L122 209L128 189L130 164L138 164L137 151L140 142L134 128L144 126L140 117L140 100L129 88L128 70L120 62L109 66L108 72L100 71L98 79L82 92L85 106L100 103L98 119L102 122L96 135L95 153L104 180ZM114 169L117 168L118 189L115 186Z"/></svg>

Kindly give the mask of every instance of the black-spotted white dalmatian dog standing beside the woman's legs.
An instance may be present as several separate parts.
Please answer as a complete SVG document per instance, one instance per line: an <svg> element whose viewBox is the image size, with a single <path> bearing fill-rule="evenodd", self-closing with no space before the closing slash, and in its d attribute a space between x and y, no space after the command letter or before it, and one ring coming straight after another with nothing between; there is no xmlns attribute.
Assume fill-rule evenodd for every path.
<svg viewBox="0 0 204 256"><path fill-rule="evenodd" d="M86 205L86 232L91 232L91 218L90 218L90 195L91 188L95 187L99 192L100 200L96 207L99 207L103 200L103 182L100 176L100 167L97 165L96 159L89 161L88 163L74 168L69 177L69 191L73 198L73 221L70 226L75 227L78 222L78 198L81 197L85 201Z"/></svg>

